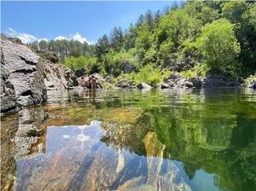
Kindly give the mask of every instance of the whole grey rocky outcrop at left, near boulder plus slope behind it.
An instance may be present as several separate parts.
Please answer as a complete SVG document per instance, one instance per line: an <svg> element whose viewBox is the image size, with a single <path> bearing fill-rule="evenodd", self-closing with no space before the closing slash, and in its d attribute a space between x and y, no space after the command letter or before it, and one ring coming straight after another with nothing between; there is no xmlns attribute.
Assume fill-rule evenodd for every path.
<svg viewBox="0 0 256 191"><path fill-rule="evenodd" d="M69 68L1 36L1 113L37 105L47 100L47 90L67 89L74 82L76 78Z"/></svg>

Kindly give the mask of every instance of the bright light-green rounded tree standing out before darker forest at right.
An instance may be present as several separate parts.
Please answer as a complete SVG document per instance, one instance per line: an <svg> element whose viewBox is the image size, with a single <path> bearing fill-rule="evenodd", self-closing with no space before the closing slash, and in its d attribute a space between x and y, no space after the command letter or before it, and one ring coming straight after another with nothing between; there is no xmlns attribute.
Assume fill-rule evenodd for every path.
<svg viewBox="0 0 256 191"><path fill-rule="evenodd" d="M212 72L234 69L236 57L240 52L234 26L229 20L215 20L201 29L201 36L196 45L200 49Z"/></svg>

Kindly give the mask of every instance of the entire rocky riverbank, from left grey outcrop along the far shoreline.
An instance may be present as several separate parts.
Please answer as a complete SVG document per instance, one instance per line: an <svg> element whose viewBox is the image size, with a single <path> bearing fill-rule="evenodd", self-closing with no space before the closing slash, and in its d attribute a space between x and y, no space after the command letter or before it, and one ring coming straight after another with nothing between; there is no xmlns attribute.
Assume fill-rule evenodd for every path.
<svg viewBox="0 0 256 191"><path fill-rule="evenodd" d="M47 91L79 90L79 80L69 68L55 63L57 58L50 53L28 49L19 39L1 36L1 114L13 113L26 106L38 105L47 101ZM150 69L150 67L149 67ZM138 73L150 78L150 71ZM172 88L216 88L216 87L248 87L256 88L256 78L230 80L222 74L208 74L201 77L184 77L178 72L155 72L158 78L151 78L151 84L146 84L147 78L134 80L134 73L126 73L119 78L109 75L97 78L97 88L100 89L172 89ZM152 73L153 75L153 73ZM84 76L89 80L88 76ZM141 81L139 81L141 80Z"/></svg>

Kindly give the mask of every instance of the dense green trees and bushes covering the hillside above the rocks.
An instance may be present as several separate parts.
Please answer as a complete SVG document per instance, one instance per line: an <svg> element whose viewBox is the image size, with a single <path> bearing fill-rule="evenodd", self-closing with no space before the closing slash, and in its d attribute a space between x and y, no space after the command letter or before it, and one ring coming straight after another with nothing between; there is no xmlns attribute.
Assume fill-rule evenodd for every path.
<svg viewBox="0 0 256 191"><path fill-rule="evenodd" d="M125 31L114 27L95 45L59 40L41 41L38 46L58 52L67 67L84 68L85 73L113 77L131 73L130 78L133 74L139 78L143 71L153 72L141 77L151 84L161 81L164 70L187 77L222 72L237 78L255 73L256 3L193 1L172 5L156 13L148 10Z"/></svg>

